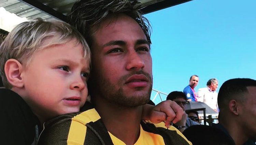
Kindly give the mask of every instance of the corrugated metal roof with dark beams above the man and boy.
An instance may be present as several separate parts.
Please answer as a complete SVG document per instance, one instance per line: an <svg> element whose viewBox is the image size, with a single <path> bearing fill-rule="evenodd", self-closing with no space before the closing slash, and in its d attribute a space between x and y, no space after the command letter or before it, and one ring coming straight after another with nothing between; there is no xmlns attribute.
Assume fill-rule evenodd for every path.
<svg viewBox="0 0 256 145"><path fill-rule="evenodd" d="M28 20L41 17L45 20L66 21L76 0L0 0L0 7ZM190 0L138 0L142 3L144 14L168 8Z"/></svg>

